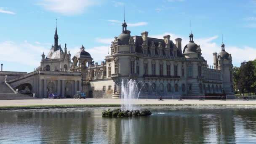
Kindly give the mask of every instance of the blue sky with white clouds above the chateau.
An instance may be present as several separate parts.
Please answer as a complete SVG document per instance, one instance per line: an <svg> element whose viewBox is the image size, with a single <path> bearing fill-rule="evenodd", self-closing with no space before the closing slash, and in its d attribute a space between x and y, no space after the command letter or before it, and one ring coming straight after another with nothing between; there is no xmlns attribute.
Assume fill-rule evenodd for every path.
<svg viewBox="0 0 256 144"><path fill-rule="evenodd" d="M72 56L83 44L96 62L121 31L123 7L131 35L194 41L213 63L222 34L233 64L256 58L256 0L1 0L0 63L5 71L31 72L54 43L55 19L62 47Z"/></svg>

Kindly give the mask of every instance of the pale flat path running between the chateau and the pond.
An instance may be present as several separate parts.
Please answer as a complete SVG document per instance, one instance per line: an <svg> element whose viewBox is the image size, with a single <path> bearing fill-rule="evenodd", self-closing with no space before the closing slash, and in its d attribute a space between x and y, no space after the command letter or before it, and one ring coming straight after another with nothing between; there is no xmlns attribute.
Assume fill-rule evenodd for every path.
<svg viewBox="0 0 256 144"><path fill-rule="evenodd" d="M165 99L158 101L157 99L136 99L133 100L134 104L191 104L191 105L254 105L256 101L243 101L243 100L184 100L178 101L173 99ZM0 100L0 107L4 106L32 106L32 105L67 105L67 104L121 104L121 99L27 99L27 100Z"/></svg>

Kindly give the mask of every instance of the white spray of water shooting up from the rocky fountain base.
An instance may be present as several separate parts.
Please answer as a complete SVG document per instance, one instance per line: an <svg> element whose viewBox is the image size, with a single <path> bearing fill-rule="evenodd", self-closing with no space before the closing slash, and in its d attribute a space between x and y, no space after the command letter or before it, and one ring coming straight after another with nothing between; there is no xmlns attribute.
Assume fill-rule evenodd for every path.
<svg viewBox="0 0 256 144"><path fill-rule="evenodd" d="M122 80L121 87L121 100L122 100L122 111L133 110L133 100L139 95L137 83L135 80L127 80L126 82Z"/></svg>

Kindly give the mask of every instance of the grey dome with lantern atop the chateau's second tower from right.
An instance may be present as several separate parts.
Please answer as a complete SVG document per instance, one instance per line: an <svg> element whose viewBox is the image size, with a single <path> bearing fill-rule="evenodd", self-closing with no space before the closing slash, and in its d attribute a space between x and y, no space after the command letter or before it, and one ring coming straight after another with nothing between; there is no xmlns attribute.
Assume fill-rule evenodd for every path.
<svg viewBox="0 0 256 144"><path fill-rule="evenodd" d="M197 58L198 57L198 45L194 43L194 35L189 34L189 43L185 45L183 49L183 55L185 58Z"/></svg>

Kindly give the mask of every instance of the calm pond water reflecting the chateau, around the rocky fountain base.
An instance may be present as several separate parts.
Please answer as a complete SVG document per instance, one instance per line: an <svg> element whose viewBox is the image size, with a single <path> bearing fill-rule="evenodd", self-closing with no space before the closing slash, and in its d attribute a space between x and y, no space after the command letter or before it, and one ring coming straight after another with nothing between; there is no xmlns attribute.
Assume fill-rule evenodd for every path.
<svg viewBox="0 0 256 144"><path fill-rule="evenodd" d="M0 143L256 143L253 108L150 107L132 118L101 117L104 109L0 111Z"/></svg>

